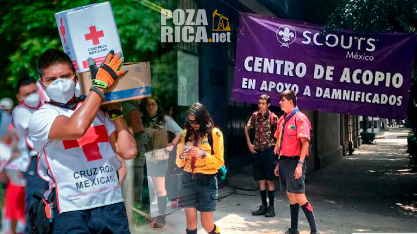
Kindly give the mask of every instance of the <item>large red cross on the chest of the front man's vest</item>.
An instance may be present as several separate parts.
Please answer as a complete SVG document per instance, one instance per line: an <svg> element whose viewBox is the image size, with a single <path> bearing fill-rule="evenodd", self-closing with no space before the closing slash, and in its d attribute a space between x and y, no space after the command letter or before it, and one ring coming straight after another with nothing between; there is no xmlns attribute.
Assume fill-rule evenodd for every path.
<svg viewBox="0 0 417 234"><path fill-rule="evenodd" d="M76 140L62 141L64 149L82 147L87 162L103 159L98 148L98 143L108 142L108 135L104 125L89 127L84 137Z"/></svg>

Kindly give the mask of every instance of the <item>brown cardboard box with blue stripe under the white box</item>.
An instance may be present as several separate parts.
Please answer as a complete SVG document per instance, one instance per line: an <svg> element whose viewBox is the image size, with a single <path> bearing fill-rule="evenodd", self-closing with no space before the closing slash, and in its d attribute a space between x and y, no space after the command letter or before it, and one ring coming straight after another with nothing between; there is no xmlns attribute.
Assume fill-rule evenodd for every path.
<svg viewBox="0 0 417 234"><path fill-rule="evenodd" d="M118 77L114 84L107 89L104 94L106 101L102 104L113 102L123 102L135 100L152 95L151 88L151 65L149 62L125 62L123 68L129 70ZM77 73L80 83L80 93L82 97L87 97L90 93L91 74L90 72Z"/></svg>

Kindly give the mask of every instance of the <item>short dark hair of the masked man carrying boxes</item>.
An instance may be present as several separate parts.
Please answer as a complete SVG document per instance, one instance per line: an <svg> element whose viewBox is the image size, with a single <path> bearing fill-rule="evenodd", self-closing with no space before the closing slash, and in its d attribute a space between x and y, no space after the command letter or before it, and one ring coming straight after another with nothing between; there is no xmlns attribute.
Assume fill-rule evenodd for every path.
<svg viewBox="0 0 417 234"><path fill-rule="evenodd" d="M61 50L48 49L40 55L38 60L38 73L40 78L45 74L44 70L52 65L60 63L66 63L71 70L75 73L74 65L71 62L70 57Z"/></svg>

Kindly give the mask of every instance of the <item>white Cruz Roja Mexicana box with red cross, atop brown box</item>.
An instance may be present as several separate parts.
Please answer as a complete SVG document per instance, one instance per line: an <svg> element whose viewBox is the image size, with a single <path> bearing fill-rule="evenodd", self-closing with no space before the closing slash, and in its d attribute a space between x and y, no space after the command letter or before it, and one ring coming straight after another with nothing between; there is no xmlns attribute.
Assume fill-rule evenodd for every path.
<svg viewBox="0 0 417 234"><path fill-rule="evenodd" d="M76 72L88 71L88 57L100 65L110 50L122 52L110 2L57 12L55 20L64 52Z"/></svg>

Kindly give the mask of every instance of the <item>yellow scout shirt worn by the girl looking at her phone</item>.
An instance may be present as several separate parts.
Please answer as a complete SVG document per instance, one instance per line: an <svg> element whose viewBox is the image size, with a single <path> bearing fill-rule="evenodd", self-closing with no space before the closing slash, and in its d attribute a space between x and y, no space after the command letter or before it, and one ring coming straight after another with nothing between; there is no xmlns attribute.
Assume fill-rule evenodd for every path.
<svg viewBox="0 0 417 234"><path fill-rule="evenodd" d="M203 159L197 158L195 163L194 172L191 169L191 159L180 159L179 155L184 150L184 144L188 146L193 146L193 136L190 136L188 142L184 143L185 136L187 130L183 130L181 142L178 144L177 148L177 157L175 163L178 167L183 167L185 172L190 173L202 173L202 174L216 174L217 170L220 169L221 166L224 165L224 145L223 145L223 134L221 133L220 129L213 128L212 136L213 136L213 152L211 154L211 146L208 143L207 134L203 137L203 139L198 139L197 148L202 149L206 152L206 157Z"/></svg>

